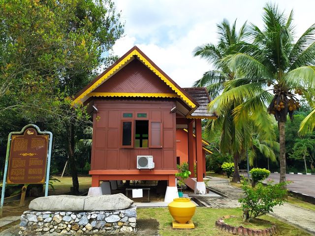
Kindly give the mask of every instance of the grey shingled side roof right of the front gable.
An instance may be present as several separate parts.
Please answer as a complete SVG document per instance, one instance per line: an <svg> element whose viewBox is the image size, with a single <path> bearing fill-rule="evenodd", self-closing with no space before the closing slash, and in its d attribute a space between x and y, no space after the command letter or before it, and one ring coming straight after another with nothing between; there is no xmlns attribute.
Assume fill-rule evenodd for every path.
<svg viewBox="0 0 315 236"><path fill-rule="evenodd" d="M184 88L184 90L199 104L199 107L188 118L217 118L217 114L208 109L211 99L206 88Z"/></svg>

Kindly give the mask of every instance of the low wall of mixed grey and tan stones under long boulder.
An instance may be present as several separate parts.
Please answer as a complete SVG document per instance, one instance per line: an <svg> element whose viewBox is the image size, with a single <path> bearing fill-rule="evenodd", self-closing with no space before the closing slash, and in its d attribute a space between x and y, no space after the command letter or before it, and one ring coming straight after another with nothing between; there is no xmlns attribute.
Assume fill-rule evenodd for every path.
<svg viewBox="0 0 315 236"><path fill-rule="evenodd" d="M34 211L23 212L20 235L127 234L136 232L136 206L113 211Z"/></svg>

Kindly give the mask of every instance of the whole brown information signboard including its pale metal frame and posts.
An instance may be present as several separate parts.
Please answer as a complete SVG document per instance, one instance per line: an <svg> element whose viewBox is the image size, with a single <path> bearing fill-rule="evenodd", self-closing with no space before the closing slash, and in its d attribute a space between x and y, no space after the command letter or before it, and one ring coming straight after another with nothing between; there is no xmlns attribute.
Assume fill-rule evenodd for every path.
<svg viewBox="0 0 315 236"><path fill-rule="evenodd" d="M52 140L51 132L41 132L34 124L24 126L21 132L9 133L1 190L0 216L2 215L6 184L45 183L45 196L48 196ZM24 185L24 190L26 187L27 185ZM24 195L22 191L21 203L23 196L25 197L25 191Z"/></svg>

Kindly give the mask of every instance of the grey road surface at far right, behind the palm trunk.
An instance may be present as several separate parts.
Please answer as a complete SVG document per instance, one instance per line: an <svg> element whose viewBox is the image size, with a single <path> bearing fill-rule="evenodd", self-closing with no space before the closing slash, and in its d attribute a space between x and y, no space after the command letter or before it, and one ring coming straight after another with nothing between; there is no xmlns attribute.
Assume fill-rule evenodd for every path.
<svg viewBox="0 0 315 236"><path fill-rule="evenodd" d="M315 197L315 175L292 175L286 174L286 180L293 181L288 184L288 189ZM270 174L268 179L279 183L280 174Z"/></svg>

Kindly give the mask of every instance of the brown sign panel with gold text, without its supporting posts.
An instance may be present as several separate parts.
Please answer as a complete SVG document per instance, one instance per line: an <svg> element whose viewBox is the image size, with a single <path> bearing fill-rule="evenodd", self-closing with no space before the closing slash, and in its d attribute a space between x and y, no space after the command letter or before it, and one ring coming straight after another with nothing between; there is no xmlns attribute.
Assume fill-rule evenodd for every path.
<svg viewBox="0 0 315 236"><path fill-rule="evenodd" d="M7 184L45 183L48 140L32 127L11 136Z"/></svg>

